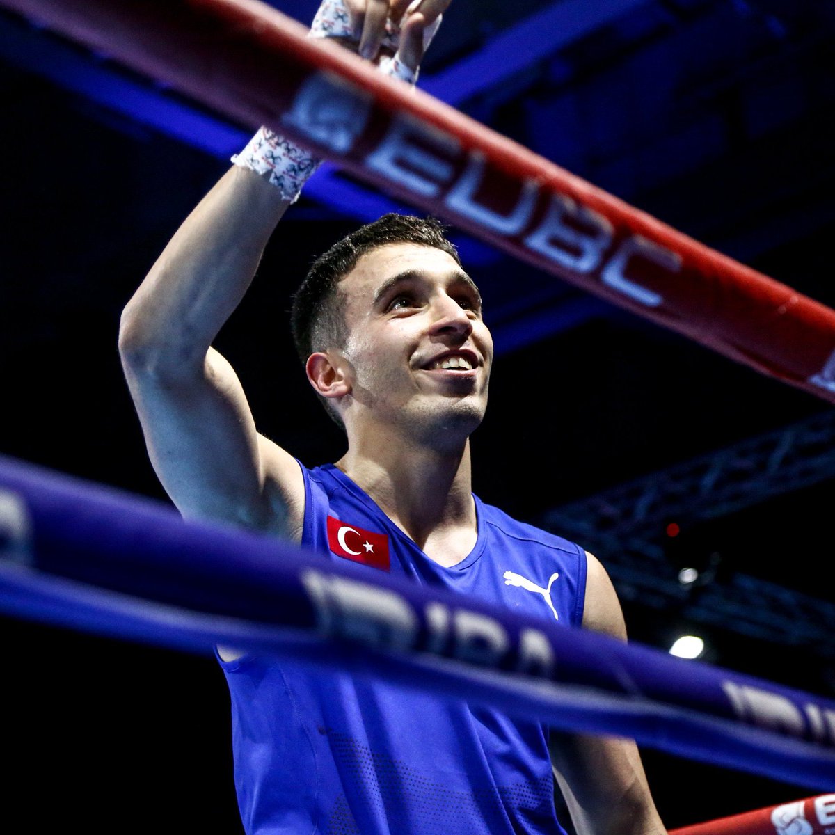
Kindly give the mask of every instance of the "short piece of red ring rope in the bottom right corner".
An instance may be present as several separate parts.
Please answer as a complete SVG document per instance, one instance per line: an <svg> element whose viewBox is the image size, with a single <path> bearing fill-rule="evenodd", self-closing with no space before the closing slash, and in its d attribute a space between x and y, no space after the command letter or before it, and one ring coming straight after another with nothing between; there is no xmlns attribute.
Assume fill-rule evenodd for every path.
<svg viewBox="0 0 835 835"><path fill-rule="evenodd" d="M833 835L835 794L806 797L721 817L690 827L671 829L670 835Z"/></svg>

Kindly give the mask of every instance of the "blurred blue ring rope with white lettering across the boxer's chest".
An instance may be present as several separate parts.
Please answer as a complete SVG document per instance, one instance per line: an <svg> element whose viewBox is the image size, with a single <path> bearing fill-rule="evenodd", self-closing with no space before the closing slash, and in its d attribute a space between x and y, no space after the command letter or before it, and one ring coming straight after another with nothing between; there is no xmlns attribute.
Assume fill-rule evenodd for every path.
<svg viewBox="0 0 835 835"><path fill-rule="evenodd" d="M835 701L186 522L168 505L0 457L3 557L8 615L190 652L221 643L347 667L835 790Z"/></svg>

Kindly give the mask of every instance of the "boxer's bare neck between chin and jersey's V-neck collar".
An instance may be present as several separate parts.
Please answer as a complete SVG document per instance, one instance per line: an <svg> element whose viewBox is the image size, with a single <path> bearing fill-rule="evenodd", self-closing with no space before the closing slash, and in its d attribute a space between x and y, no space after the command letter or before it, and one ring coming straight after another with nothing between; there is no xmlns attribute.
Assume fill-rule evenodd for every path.
<svg viewBox="0 0 835 835"><path fill-rule="evenodd" d="M350 438L337 467L374 499L420 548L433 534L473 532L469 441L438 449L376 432Z"/></svg>

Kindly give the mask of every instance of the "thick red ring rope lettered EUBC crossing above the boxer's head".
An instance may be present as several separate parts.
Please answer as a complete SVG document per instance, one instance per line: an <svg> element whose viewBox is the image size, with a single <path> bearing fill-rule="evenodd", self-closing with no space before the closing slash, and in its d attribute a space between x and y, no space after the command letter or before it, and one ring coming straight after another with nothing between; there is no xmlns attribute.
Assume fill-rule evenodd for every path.
<svg viewBox="0 0 835 835"><path fill-rule="evenodd" d="M835 311L256 0L0 0L585 291L835 402Z"/></svg>

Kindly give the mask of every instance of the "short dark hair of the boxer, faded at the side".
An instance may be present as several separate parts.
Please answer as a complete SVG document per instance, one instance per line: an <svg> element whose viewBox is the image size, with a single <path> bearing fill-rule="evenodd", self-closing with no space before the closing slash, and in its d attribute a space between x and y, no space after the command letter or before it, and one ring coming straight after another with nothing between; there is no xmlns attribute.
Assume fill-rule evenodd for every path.
<svg viewBox="0 0 835 835"><path fill-rule="evenodd" d="M319 256L293 296L291 331L302 364L316 351L345 346L345 316L337 290L339 282L367 252L387 244L420 244L448 253L458 266L462 266L458 250L445 236L446 229L433 217L390 212L337 240ZM336 410L327 401L324 405L328 414L342 426Z"/></svg>

